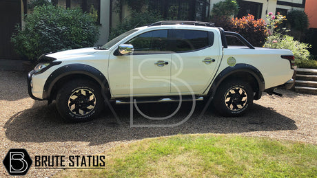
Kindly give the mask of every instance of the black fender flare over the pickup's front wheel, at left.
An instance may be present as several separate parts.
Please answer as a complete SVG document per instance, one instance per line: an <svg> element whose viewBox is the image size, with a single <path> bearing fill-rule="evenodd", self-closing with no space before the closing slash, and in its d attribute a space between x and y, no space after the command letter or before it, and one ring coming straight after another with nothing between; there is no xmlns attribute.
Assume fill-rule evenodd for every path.
<svg viewBox="0 0 317 178"><path fill-rule="evenodd" d="M54 70L52 74L48 77L45 81L45 85L43 88L43 99L49 100L50 94L52 93L52 88L54 85L63 77L69 76L72 74L82 74L85 76L89 76L96 80L101 89L108 89L108 80L105 76L99 71L98 69L90 66L90 65L83 65L83 64L70 64L64 65L63 67L59 67L58 69Z"/></svg>

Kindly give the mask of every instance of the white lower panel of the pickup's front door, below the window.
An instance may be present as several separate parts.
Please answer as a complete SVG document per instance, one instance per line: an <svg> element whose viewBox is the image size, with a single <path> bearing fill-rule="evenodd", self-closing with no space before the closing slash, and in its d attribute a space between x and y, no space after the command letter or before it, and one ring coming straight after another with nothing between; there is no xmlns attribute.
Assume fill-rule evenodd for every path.
<svg viewBox="0 0 317 178"><path fill-rule="evenodd" d="M109 85L114 97L170 93L172 54L110 56ZM169 63L154 65L158 60Z"/></svg>

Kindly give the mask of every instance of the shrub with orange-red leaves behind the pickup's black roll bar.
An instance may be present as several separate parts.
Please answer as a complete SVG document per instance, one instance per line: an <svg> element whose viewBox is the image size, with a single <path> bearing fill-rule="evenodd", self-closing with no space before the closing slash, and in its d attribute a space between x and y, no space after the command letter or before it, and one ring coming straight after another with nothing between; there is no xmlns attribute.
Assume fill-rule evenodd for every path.
<svg viewBox="0 0 317 178"><path fill-rule="evenodd" d="M256 47L263 47L267 38L266 23L263 19L255 20L254 16L248 14L241 19L235 18L231 20L232 30L249 41Z"/></svg>

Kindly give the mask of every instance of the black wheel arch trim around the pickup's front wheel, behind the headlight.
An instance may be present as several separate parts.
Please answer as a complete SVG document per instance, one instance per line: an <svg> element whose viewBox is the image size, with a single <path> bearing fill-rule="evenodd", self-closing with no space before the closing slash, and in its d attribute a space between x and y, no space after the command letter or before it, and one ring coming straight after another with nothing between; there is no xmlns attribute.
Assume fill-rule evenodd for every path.
<svg viewBox="0 0 317 178"><path fill-rule="evenodd" d="M74 78L92 80L100 85L102 91L110 94L108 80L101 71L90 65L72 64L59 67L59 69L56 69L50 74L43 88L43 99L48 100L49 103L52 102L57 95L59 87L66 81Z"/></svg>

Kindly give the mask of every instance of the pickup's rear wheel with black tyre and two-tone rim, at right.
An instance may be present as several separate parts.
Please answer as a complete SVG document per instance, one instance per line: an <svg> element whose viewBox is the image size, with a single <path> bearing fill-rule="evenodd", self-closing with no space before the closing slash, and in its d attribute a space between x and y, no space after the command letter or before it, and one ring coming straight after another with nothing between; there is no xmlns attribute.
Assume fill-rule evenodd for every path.
<svg viewBox="0 0 317 178"><path fill-rule="evenodd" d="M218 87L213 104L221 115L237 117L247 111L253 98L254 92L247 82L229 80Z"/></svg>

